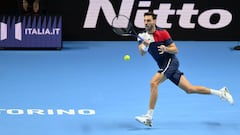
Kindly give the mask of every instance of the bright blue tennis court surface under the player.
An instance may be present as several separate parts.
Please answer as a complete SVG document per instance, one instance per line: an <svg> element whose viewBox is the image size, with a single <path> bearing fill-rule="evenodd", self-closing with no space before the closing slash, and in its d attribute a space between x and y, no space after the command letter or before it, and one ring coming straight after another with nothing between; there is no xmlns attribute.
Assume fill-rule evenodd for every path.
<svg viewBox="0 0 240 135"><path fill-rule="evenodd" d="M158 70L135 41L63 42L62 50L0 51L1 135L239 135L237 42L176 41L193 84L227 86L235 104L159 86L151 128L138 123ZM130 61L123 56L129 54Z"/></svg>

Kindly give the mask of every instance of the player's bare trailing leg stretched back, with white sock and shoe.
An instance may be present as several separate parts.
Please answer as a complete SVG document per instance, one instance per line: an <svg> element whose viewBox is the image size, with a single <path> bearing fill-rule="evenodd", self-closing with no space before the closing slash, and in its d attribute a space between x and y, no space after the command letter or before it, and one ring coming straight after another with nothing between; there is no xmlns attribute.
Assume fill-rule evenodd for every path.
<svg viewBox="0 0 240 135"><path fill-rule="evenodd" d="M198 94L213 94L224 100L227 100L230 104L233 104L233 98L226 87L220 90L210 89L204 86L192 85L184 75L181 75L178 86L186 93L198 93Z"/></svg>

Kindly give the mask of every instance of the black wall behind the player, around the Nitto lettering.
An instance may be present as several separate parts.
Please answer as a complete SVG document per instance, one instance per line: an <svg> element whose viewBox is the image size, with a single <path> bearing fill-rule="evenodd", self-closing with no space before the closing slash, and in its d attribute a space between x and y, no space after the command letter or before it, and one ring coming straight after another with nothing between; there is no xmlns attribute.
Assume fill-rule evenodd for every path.
<svg viewBox="0 0 240 135"><path fill-rule="evenodd" d="M14 14L16 13L17 5L16 0L0 0L0 13L1 14ZM63 16L63 40L135 40L134 38L123 38L115 35L109 23L107 22L106 15L101 9L97 19L95 28L84 28L86 16L89 11L91 2L95 3L111 3L116 14L121 8L122 1L124 0L48 0L47 10L48 14L62 15ZM149 7L140 7L139 3L146 0L135 0L132 12L131 21L134 22L136 14L141 10L156 10L160 4L171 4L171 10L180 10L184 4L194 4L194 9L198 10L197 15L191 16L191 23L195 23L194 28L183 28L179 24L180 15L169 15L167 22L171 23L171 28L167 28L171 33L174 40L240 40L240 8L236 0L152 0ZM208 29L199 24L199 16L212 9L221 9L229 12L232 15L231 21L228 25L222 28ZM106 11L106 10L105 10ZM109 10L112 12L112 10ZM207 17L206 17L207 18ZM216 24L221 18L219 14L214 14L206 20L211 24ZM137 31L142 30L138 28Z"/></svg>

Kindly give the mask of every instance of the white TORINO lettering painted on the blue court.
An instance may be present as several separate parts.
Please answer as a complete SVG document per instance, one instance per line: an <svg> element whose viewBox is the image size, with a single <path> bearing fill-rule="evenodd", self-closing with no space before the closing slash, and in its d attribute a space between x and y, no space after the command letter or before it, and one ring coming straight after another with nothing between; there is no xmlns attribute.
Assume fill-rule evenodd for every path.
<svg viewBox="0 0 240 135"><path fill-rule="evenodd" d="M1 115L95 115L94 109L0 109Z"/></svg>

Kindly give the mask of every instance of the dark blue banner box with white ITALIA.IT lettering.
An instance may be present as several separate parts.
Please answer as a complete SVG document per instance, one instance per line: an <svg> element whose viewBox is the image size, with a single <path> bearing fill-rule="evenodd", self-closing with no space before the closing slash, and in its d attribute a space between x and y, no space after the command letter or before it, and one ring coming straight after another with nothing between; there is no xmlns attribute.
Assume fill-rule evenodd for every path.
<svg viewBox="0 0 240 135"><path fill-rule="evenodd" d="M0 48L61 49L61 16L0 16Z"/></svg>

